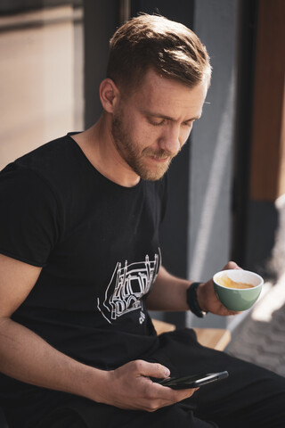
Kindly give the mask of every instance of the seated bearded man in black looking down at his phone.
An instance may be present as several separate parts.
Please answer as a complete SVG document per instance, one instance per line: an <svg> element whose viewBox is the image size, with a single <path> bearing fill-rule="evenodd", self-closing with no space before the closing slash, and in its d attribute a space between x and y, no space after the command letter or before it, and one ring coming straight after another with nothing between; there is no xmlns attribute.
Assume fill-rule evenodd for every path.
<svg viewBox="0 0 285 428"><path fill-rule="evenodd" d="M139 16L110 41L98 122L2 172L0 369L11 428L283 426L283 378L201 347L189 329L157 337L148 314L233 314L212 281L169 274L159 250L164 175L209 82L191 30ZM152 382L222 370L227 380L199 391Z"/></svg>

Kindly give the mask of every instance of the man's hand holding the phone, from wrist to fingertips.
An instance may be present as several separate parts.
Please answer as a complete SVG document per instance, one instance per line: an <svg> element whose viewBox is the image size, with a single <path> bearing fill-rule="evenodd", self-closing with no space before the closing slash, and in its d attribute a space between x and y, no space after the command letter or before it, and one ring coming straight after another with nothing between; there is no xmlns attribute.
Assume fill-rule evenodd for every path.
<svg viewBox="0 0 285 428"><path fill-rule="evenodd" d="M169 370L159 363L148 363L135 360L106 372L106 381L97 389L96 401L111 406L154 412L160 407L170 406L187 399L196 389L175 391L159 383L152 382L150 377L167 378Z"/></svg>

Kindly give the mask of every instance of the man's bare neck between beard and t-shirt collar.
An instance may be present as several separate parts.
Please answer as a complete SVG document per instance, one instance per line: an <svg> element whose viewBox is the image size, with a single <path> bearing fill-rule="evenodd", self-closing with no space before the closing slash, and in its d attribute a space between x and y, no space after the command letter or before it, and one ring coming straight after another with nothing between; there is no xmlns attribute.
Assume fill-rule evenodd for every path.
<svg viewBox="0 0 285 428"><path fill-rule="evenodd" d="M111 119L111 115L104 112L93 127L72 138L102 176L118 185L133 187L140 177L120 156L111 133Z"/></svg>

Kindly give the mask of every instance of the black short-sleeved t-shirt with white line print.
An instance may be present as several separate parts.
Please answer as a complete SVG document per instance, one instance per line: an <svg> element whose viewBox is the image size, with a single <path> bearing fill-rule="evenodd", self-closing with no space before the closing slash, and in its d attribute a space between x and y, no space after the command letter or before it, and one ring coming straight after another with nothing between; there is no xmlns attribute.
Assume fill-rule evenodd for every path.
<svg viewBox="0 0 285 428"><path fill-rule="evenodd" d="M0 174L0 252L43 267L12 319L104 369L156 347L145 297L160 266L165 179L123 187L71 136Z"/></svg>

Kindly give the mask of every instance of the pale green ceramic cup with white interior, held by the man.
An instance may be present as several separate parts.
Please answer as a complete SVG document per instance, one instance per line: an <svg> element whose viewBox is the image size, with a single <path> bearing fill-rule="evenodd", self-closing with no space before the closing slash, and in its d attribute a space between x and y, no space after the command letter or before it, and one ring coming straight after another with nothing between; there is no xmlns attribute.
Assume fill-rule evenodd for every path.
<svg viewBox="0 0 285 428"><path fill-rule="evenodd" d="M219 284L221 277L226 275L235 283L252 284L252 288L228 288ZM252 307L262 290L264 280L254 272L242 269L229 269L217 272L213 276L214 288L218 299L225 308L241 311ZM222 281L223 282L223 281Z"/></svg>

